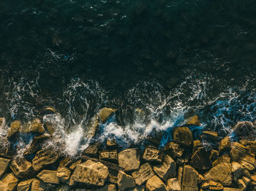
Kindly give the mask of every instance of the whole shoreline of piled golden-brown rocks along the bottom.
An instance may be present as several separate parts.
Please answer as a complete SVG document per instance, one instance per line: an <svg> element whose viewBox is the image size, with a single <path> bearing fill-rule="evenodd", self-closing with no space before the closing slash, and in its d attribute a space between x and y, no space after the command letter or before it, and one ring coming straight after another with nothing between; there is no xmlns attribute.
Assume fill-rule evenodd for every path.
<svg viewBox="0 0 256 191"><path fill-rule="evenodd" d="M54 112L47 109L45 114ZM91 122L95 128L90 136L114 112L100 110ZM197 116L174 128L173 141L164 148L157 139L148 139L146 147L128 149L109 139L105 144L92 142L79 157L67 157L42 147L54 139L53 125L35 119L28 124L15 120L7 127L1 118L6 136L1 137L0 190L255 190L256 141L250 134L256 122L238 122L233 136L224 138L212 131L195 137L189 128L193 125L200 125ZM20 135L31 137L22 157L14 149ZM211 149L203 146L205 139L212 143Z"/></svg>

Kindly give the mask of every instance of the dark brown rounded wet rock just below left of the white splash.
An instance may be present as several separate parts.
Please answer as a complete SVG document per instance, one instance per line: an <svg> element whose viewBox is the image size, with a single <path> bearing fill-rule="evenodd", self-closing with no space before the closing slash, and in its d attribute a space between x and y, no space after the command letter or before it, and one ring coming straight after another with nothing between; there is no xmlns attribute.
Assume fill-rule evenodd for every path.
<svg viewBox="0 0 256 191"><path fill-rule="evenodd" d="M44 168L46 165L55 163L58 160L59 156L57 152L54 152L50 149L39 150L34 159L32 160L32 166L35 171L39 171Z"/></svg>

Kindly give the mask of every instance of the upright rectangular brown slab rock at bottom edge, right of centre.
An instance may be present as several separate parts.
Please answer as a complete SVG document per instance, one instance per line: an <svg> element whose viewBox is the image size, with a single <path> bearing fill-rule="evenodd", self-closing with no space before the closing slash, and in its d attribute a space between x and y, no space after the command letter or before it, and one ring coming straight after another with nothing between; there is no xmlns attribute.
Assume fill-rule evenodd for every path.
<svg viewBox="0 0 256 191"><path fill-rule="evenodd" d="M198 176L199 175L197 171L195 171L195 168L192 168L190 165L185 165L181 190L198 190Z"/></svg>

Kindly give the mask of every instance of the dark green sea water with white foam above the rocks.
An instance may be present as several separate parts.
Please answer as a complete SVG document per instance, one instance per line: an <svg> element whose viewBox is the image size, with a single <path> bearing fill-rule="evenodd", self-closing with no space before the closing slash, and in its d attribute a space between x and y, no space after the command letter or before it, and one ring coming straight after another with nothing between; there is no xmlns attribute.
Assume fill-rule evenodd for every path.
<svg viewBox="0 0 256 191"><path fill-rule="evenodd" d="M193 114L223 135L256 118L255 1L1 0L0 18L7 122L53 106L78 133L110 106L102 134L129 142Z"/></svg>

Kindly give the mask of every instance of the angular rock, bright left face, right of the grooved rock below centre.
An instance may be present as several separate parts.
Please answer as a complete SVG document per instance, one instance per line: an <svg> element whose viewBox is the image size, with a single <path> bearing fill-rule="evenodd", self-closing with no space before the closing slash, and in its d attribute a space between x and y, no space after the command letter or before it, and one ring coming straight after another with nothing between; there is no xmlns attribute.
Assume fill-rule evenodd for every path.
<svg viewBox="0 0 256 191"><path fill-rule="evenodd" d="M154 171L161 179L167 181L176 176L176 163L169 155L165 155L162 164L154 166Z"/></svg>

